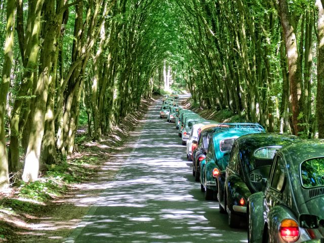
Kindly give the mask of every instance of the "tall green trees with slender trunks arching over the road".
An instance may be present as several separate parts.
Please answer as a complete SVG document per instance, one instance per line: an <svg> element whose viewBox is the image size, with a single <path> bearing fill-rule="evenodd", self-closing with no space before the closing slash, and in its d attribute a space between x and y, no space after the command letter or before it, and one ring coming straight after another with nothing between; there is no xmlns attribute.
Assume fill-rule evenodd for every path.
<svg viewBox="0 0 324 243"><path fill-rule="evenodd" d="M1 187L71 154L80 114L109 134L167 72L201 108L324 137L320 0L0 2Z"/></svg>

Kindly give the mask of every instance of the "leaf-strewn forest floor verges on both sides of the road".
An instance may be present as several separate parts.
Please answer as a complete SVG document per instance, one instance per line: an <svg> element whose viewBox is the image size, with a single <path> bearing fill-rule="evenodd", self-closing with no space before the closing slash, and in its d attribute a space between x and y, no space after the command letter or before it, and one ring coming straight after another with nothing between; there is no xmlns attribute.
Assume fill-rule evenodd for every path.
<svg viewBox="0 0 324 243"><path fill-rule="evenodd" d="M121 167L121 164L113 163L114 156L117 156L130 132L139 126L151 102L157 98L143 101L138 111L129 114L100 142L92 142L86 128L78 131L77 152L67 158L66 168L74 178L79 178L78 183L62 183L61 188L56 190L61 192L59 194L51 194L48 193L49 188L41 188L50 194L43 201L21 197L22 189L19 186L0 194L0 242L63 242L87 214L107 183L113 180ZM203 110L192 107L189 100L181 105L206 119L219 122L237 120L227 110Z"/></svg>

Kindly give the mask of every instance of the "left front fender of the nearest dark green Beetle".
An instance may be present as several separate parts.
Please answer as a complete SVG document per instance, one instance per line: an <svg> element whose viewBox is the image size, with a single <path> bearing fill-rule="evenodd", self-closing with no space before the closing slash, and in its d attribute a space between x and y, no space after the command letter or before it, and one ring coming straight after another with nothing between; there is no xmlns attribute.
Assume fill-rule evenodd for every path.
<svg viewBox="0 0 324 243"><path fill-rule="evenodd" d="M264 193L257 192L248 198L248 237L250 243L261 243L264 228L263 219Z"/></svg>

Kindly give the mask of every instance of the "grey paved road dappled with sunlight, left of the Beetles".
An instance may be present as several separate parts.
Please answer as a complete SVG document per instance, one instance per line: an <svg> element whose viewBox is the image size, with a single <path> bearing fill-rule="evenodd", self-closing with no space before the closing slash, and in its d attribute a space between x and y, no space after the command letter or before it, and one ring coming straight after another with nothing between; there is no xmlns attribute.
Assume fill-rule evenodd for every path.
<svg viewBox="0 0 324 243"><path fill-rule="evenodd" d="M155 102L132 133L115 179L65 242L248 242L231 229L216 201L206 201L174 124Z"/></svg>

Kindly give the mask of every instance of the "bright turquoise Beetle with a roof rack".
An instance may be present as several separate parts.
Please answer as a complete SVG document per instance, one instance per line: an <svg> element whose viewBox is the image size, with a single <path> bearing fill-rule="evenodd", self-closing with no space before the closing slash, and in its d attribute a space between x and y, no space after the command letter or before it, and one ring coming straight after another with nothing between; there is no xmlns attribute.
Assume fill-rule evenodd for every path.
<svg viewBox="0 0 324 243"><path fill-rule="evenodd" d="M238 137L265 132L259 124L219 124L212 134L206 158L200 162L200 189L205 192L205 199L216 198L218 185L216 176L227 166L228 155Z"/></svg>

